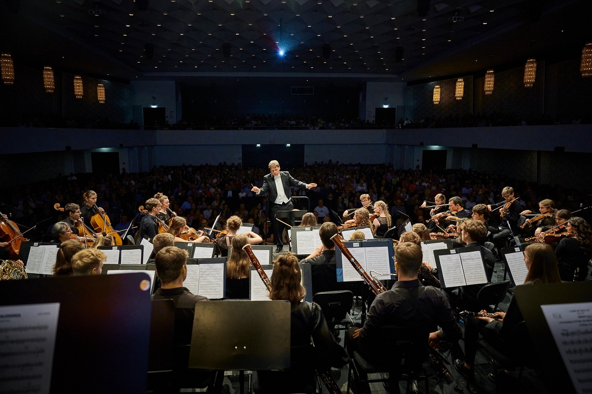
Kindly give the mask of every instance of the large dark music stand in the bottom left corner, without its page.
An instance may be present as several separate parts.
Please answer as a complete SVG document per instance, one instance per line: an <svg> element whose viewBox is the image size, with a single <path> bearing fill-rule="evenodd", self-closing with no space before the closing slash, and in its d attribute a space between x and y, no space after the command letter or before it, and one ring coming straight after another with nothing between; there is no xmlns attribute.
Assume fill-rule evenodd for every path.
<svg viewBox="0 0 592 394"><path fill-rule="evenodd" d="M140 289L145 279L138 272L0 281L0 305L60 304L50 393L146 392L151 313L150 291ZM92 340L96 333L109 339ZM97 366L108 366L109 379Z"/></svg>

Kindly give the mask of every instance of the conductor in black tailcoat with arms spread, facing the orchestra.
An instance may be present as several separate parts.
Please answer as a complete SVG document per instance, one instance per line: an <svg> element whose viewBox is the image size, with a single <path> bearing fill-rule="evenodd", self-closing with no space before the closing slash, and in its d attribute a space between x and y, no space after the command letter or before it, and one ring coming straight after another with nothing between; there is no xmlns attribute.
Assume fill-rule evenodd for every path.
<svg viewBox="0 0 592 394"><path fill-rule="evenodd" d="M253 186L251 191L254 191L259 196L260 194L269 194L269 220L271 220L274 227L274 237L276 253L279 253L284 248L282 242L282 232L284 232L285 225L278 220L275 220L275 215L278 211L291 211L294 209L292 204L292 193L290 193L290 186L298 186L301 189L316 187L316 183L304 183L293 178L287 171L279 171L279 162L272 160L269 162L270 174L263 177L263 186L258 188Z"/></svg>

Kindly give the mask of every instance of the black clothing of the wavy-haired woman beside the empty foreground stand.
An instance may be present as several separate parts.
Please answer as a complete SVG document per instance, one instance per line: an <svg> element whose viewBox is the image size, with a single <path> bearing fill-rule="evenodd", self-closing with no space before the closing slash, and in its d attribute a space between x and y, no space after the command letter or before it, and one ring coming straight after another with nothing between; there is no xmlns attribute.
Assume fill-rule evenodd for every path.
<svg viewBox="0 0 592 394"><path fill-rule="evenodd" d="M318 304L298 302L292 304L290 315L290 368L258 371L255 392L314 393L315 369L328 371L347 362L348 354L335 341Z"/></svg>

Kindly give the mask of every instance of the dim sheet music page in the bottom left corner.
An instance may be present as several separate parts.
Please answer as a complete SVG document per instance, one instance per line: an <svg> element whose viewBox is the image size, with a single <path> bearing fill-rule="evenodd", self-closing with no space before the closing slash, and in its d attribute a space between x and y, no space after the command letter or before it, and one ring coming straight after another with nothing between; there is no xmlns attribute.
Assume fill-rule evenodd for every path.
<svg viewBox="0 0 592 394"><path fill-rule="evenodd" d="M59 302L0 307L2 392L50 392L59 312Z"/></svg>

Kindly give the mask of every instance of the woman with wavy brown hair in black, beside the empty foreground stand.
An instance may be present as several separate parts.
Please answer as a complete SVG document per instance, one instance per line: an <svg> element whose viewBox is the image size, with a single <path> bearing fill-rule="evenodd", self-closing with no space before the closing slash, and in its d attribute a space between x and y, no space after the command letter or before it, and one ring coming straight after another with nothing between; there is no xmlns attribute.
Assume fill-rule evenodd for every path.
<svg viewBox="0 0 592 394"><path fill-rule="evenodd" d="M291 304L291 367L279 372L258 371L256 392L314 393L315 370L340 368L348 362L348 356L345 349L335 341L318 304L300 302L306 291L300 284L302 271L295 255L278 255L270 280L269 298L286 300Z"/></svg>

